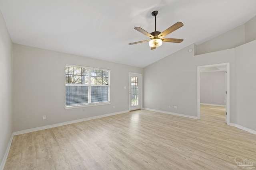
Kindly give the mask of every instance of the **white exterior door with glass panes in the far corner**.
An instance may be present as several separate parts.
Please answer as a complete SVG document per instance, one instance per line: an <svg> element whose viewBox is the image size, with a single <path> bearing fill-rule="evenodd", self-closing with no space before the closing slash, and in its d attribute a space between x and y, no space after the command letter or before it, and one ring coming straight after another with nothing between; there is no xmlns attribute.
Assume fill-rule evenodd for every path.
<svg viewBox="0 0 256 170"><path fill-rule="evenodd" d="M129 73L129 110L140 109L141 74Z"/></svg>

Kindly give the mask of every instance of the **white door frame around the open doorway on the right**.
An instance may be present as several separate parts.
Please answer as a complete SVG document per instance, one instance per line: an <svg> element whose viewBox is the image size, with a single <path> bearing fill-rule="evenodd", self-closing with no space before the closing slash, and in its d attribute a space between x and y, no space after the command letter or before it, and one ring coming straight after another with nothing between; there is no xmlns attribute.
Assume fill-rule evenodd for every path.
<svg viewBox="0 0 256 170"><path fill-rule="evenodd" d="M197 119L200 119L200 68L214 67L214 66L226 66L226 120L227 125L230 125L230 63L211 64L205 66L197 66Z"/></svg>

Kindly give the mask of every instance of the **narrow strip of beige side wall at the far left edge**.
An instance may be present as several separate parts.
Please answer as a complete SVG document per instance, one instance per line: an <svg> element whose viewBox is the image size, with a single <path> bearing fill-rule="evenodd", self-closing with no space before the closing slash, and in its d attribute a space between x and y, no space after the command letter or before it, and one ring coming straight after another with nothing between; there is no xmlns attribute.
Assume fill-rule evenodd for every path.
<svg viewBox="0 0 256 170"><path fill-rule="evenodd" d="M0 169L12 135L12 40L0 12Z"/></svg>

